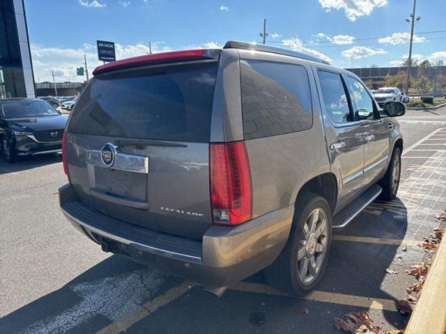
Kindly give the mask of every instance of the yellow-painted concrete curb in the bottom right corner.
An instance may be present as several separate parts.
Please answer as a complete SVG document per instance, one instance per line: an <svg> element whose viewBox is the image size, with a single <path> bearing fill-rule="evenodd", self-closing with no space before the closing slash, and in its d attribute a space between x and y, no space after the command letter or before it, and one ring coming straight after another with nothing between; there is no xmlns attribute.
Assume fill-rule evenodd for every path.
<svg viewBox="0 0 446 334"><path fill-rule="evenodd" d="M433 257L431 268L404 334L443 334L446 328L446 235Z"/></svg>

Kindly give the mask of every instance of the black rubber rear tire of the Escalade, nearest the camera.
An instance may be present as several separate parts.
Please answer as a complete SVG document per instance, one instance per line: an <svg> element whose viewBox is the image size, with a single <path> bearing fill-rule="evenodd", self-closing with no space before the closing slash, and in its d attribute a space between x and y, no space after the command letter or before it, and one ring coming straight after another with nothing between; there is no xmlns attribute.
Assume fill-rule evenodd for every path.
<svg viewBox="0 0 446 334"><path fill-rule="evenodd" d="M314 230L320 230L319 227L325 219L325 229L319 237L316 237L317 234L314 235L312 232L314 230L310 225L312 223L310 218L316 211L318 221ZM305 233L305 230L309 230L309 233ZM327 267L331 230L332 213L324 198L315 193L306 193L298 198L289 239L275 262L263 271L268 284L290 296L305 296L312 292L321 281ZM307 237L305 234L308 234ZM307 239L305 246L302 244L302 239ZM325 249L320 248L324 244ZM323 252L320 251L322 249ZM313 262L308 260L311 257L314 258ZM304 269L305 263L307 263L307 271ZM310 269L311 263L316 265L315 274Z"/></svg>

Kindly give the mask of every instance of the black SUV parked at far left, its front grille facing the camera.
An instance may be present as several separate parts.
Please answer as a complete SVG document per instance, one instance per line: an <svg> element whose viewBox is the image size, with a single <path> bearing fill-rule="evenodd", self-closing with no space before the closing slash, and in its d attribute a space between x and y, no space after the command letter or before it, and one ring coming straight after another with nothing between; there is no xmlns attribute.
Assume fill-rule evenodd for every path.
<svg viewBox="0 0 446 334"><path fill-rule="evenodd" d="M61 153L67 118L39 99L0 99L0 143L6 161Z"/></svg>

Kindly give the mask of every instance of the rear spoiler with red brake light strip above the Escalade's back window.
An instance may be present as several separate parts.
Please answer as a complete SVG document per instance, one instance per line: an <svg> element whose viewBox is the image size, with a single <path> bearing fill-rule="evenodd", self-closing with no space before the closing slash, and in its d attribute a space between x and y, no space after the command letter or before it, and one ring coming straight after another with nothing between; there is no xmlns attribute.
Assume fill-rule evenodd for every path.
<svg viewBox="0 0 446 334"><path fill-rule="evenodd" d="M137 67L150 63L158 63L164 61L178 61L190 60L194 58L215 58L220 56L220 49L194 49L184 51L170 51L161 52L159 54L146 54L144 56L137 56L133 58L122 59L120 61L112 61L105 65L100 65L93 70L93 75L102 74L105 72L112 72L114 70L121 70L127 67Z"/></svg>

